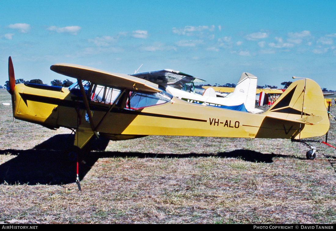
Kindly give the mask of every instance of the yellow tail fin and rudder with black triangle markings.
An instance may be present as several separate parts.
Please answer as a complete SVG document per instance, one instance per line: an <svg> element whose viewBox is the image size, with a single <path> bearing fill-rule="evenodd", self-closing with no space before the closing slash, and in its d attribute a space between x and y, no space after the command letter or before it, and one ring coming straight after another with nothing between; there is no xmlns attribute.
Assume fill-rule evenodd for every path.
<svg viewBox="0 0 336 231"><path fill-rule="evenodd" d="M323 136L329 129L321 87L311 79L292 83L264 115L302 124L295 139Z"/></svg>

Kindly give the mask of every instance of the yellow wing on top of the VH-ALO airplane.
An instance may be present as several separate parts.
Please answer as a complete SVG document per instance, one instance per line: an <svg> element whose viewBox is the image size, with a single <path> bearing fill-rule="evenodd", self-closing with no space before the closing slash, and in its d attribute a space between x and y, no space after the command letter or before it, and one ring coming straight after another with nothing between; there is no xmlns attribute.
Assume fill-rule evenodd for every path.
<svg viewBox="0 0 336 231"><path fill-rule="evenodd" d="M75 64L55 64L50 67L50 70L72 78L86 80L104 86L117 86L130 90L142 90L149 92L161 91L158 88L159 86L157 84L144 79L139 79L125 74L111 73Z"/></svg>

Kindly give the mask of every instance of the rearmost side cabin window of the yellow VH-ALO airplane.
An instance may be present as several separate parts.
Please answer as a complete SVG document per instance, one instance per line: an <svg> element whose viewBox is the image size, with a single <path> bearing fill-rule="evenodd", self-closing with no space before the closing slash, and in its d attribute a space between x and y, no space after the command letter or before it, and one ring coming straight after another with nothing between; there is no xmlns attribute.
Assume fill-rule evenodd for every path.
<svg viewBox="0 0 336 231"><path fill-rule="evenodd" d="M144 93L144 92L131 92L129 100L126 104L128 109L140 109L150 107L154 105L164 104L170 102L173 98L171 94L167 92L157 93Z"/></svg>

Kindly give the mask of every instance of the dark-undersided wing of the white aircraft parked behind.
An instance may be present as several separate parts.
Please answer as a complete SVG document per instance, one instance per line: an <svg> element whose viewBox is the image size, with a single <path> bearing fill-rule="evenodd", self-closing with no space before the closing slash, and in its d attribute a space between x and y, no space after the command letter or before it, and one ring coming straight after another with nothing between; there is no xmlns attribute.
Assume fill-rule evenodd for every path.
<svg viewBox="0 0 336 231"><path fill-rule="evenodd" d="M145 79L150 82L156 83L162 86L172 86L172 87L181 87L185 83L201 83L205 82L203 79L196 78L194 76L174 71L170 69L164 69L160 71L151 71L151 72L143 72L138 74L132 74L131 76L135 76L140 79Z"/></svg>

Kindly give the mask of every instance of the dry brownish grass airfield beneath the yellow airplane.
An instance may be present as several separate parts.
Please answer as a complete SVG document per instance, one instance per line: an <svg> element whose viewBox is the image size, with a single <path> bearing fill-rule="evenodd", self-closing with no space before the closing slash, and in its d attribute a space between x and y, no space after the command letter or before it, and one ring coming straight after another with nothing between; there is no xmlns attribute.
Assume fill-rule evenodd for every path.
<svg viewBox="0 0 336 231"><path fill-rule="evenodd" d="M105 151L83 156L78 191L76 162L66 154L71 131L13 121L11 107L2 103L10 103L4 89L0 222L336 222L336 154L328 146L316 144L316 159L307 160L308 148L290 140L110 141ZM330 122L328 142L336 145Z"/></svg>

